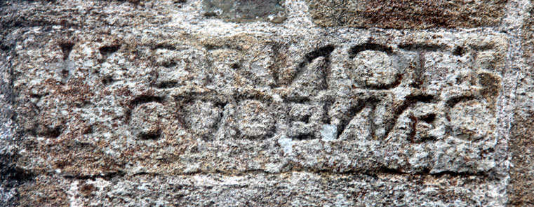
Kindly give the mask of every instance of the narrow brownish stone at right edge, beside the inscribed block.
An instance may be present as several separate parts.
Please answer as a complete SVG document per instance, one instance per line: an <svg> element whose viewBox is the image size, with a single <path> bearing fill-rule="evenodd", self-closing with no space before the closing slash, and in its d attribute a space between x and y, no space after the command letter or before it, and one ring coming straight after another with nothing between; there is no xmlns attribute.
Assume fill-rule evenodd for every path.
<svg viewBox="0 0 534 207"><path fill-rule="evenodd" d="M519 70L516 107L510 151L509 200L513 206L534 205L534 10L530 8L523 24L522 48L525 66Z"/></svg>

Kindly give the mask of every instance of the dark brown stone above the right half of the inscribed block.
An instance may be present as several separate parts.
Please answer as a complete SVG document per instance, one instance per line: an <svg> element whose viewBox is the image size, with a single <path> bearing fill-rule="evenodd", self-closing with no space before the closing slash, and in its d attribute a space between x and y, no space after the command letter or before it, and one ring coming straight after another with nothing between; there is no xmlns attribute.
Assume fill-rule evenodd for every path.
<svg viewBox="0 0 534 207"><path fill-rule="evenodd" d="M307 0L316 24L325 27L432 27L497 26L507 0Z"/></svg>

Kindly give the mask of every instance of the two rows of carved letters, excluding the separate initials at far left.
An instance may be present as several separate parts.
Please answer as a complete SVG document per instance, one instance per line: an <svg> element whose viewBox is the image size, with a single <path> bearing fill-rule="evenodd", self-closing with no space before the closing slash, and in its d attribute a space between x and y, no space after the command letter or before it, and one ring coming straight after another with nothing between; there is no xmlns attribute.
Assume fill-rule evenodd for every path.
<svg viewBox="0 0 534 207"><path fill-rule="evenodd" d="M180 108L183 127L205 140L281 135L423 143L447 136L477 141L493 133L500 78L485 63L489 49L377 43L342 48L347 47L316 48L293 66L273 56L284 50L280 45L250 49L262 57L255 59L241 49L156 48L162 67L156 86L173 91L184 90L187 81L203 85L189 98L175 95L176 104L166 107ZM199 67L201 77L187 75ZM229 72L218 72L222 69ZM168 71L182 72L166 76ZM335 85L333 78L347 78L348 84ZM152 125L138 133L155 136L159 127Z"/></svg>

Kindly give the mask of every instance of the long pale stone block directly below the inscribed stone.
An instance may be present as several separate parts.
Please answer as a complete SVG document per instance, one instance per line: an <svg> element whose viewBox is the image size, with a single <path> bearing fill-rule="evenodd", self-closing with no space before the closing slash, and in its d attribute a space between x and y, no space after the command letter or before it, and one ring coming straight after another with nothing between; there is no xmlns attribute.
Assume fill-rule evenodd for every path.
<svg viewBox="0 0 534 207"><path fill-rule="evenodd" d="M110 180L39 176L22 194L27 206L47 201L55 206L483 206L478 178L402 176L388 173L249 173L244 176L137 175ZM44 187L65 186L64 190ZM32 186L33 187L33 186ZM34 192L29 194L27 192ZM53 194L55 197L51 198ZM452 205L448 205L451 204Z"/></svg>

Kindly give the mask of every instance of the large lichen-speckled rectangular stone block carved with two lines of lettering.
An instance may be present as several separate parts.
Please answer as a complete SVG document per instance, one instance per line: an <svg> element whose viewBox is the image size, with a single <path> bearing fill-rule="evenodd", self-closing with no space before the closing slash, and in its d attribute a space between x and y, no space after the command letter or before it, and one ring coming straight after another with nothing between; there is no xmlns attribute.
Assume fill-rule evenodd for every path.
<svg viewBox="0 0 534 207"><path fill-rule="evenodd" d="M25 35L58 38L53 31L29 31ZM225 41L209 35L202 34L213 43ZM272 60L244 67L244 62L254 58L249 55L258 55L258 51L235 50L232 53L238 59L230 66L213 66L212 51L220 49L202 48L197 41L165 43L166 39L148 33L140 33L139 39L122 38L121 45L114 45L114 51L107 55L102 54L102 48L109 47L105 40L74 45L67 59L55 42L28 48L31 51L21 48L21 55L12 62L17 74L13 85L18 94L15 101L25 104L18 106L21 113L15 120L27 134L23 143L36 148L28 147L31 156L21 158L20 164L44 171L59 166L63 173L84 176L117 171L278 173L292 169L489 173L494 166L495 98L500 92L502 69L479 67L477 54L503 54L506 40L493 34L484 39L464 34L454 41L438 36L430 42L413 41L413 36L429 35L399 36L389 45L379 41L343 44L345 40L333 37L323 38L326 46L319 48L295 43L303 54L295 54L300 60L288 63L287 69L293 70L287 72L288 80L279 76L272 80L274 86L256 85L254 79L262 76L251 73L274 79L274 73L280 73L274 70L281 69L269 67L284 63ZM180 38L174 36L171 39ZM88 37L80 34L76 38ZM241 43L243 47L268 48L272 47L269 42L289 42L291 38L262 36ZM163 42L139 41L142 39ZM358 35L348 39L357 40ZM140 55L128 51L128 45L134 44ZM177 49L154 46L169 44ZM386 49L382 52L375 45ZM462 47L462 54L455 54L457 47ZM34 58L24 55L29 52L51 54L46 51L53 50L58 52L57 58L25 61ZM287 53L288 48L277 50ZM175 52L189 56L173 55ZM261 52L274 55L269 54L272 50ZM363 58L361 54L380 55ZM27 70L32 67L35 69ZM159 74L168 69L172 72ZM39 75L43 71L46 73ZM360 73L369 77L361 79ZM493 78L496 86L483 82L486 77ZM359 116L363 120L353 121ZM323 132L330 126L333 138ZM354 133L355 128L364 126L371 126L363 133L368 136ZM286 137L296 141L291 155L276 146L276 140ZM44 150L60 143L79 150ZM169 145L202 149L187 153L161 150ZM93 162L85 158L84 162L72 162L72 157L65 157L80 150L102 157ZM126 153L131 154L123 157ZM55 158L32 162L39 154ZM206 157L216 154L222 156ZM248 160L252 157L255 159ZM109 160L100 164L102 159ZM135 166L123 167L127 163ZM160 165L166 168L154 168Z"/></svg>

